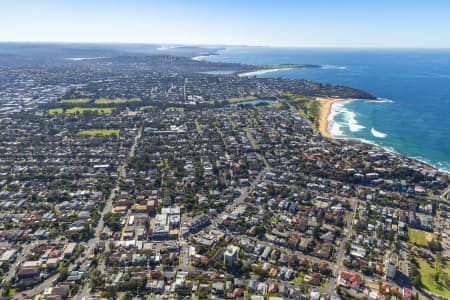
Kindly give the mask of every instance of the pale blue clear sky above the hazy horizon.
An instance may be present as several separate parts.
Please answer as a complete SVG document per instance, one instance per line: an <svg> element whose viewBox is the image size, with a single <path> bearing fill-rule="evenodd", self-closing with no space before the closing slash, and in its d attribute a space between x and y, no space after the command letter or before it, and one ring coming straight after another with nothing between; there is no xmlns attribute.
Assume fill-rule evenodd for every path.
<svg viewBox="0 0 450 300"><path fill-rule="evenodd" d="M450 1L0 0L0 41L450 48Z"/></svg>

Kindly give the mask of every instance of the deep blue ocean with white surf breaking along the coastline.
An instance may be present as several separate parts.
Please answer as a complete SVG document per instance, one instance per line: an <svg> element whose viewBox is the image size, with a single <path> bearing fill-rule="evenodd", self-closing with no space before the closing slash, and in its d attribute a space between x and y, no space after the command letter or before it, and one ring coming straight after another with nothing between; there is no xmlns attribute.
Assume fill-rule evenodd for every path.
<svg viewBox="0 0 450 300"><path fill-rule="evenodd" d="M450 49L232 47L204 59L322 65L258 76L342 84L390 99L334 105L332 133L364 139L450 171Z"/></svg>

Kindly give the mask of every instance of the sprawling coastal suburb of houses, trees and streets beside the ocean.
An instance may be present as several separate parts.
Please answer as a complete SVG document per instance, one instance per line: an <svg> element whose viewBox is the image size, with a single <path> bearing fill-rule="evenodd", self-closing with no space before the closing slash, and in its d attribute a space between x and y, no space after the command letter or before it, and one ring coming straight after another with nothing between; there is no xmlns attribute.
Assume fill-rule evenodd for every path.
<svg viewBox="0 0 450 300"><path fill-rule="evenodd" d="M448 173L318 130L376 95L215 51L5 59L2 299L449 299Z"/></svg>

